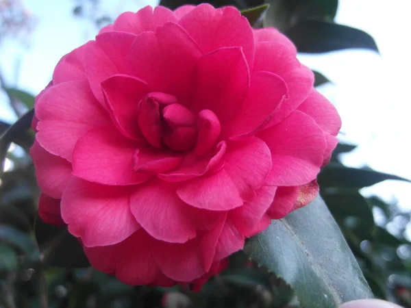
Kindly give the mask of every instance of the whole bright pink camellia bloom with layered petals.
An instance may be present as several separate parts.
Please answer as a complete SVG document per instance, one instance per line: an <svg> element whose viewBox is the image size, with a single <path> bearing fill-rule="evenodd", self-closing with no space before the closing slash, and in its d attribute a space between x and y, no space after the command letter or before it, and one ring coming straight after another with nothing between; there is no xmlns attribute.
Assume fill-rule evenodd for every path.
<svg viewBox="0 0 411 308"><path fill-rule="evenodd" d="M232 7L125 12L36 100L39 212L132 285L201 285L306 205L340 118L294 45Z"/></svg>

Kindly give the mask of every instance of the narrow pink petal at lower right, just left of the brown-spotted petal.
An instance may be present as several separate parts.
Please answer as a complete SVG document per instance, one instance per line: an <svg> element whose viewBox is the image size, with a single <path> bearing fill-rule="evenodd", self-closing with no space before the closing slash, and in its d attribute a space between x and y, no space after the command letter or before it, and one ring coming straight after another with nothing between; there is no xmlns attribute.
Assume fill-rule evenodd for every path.
<svg viewBox="0 0 411 308"><path fill-rule="evenodd" d="M244 203L241 207L229 212L229 218L238 231L243 235L252 233L273 203L275 190L277 190L275 186L262 186L256 191L256 198L253 201Z"/></svg>

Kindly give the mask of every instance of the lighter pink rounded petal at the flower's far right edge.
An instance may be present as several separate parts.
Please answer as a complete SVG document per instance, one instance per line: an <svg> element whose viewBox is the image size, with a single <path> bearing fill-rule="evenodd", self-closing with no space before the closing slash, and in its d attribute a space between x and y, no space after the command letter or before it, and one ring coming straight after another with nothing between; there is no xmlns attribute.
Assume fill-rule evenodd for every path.
<svg viewBox="0 0 411 308"><path fill-rule="evenodd" d="M311 116L323 131L332 136L336 136L341 128L341 118L336 107L315 89L311 90L298 110Z"/></svg>

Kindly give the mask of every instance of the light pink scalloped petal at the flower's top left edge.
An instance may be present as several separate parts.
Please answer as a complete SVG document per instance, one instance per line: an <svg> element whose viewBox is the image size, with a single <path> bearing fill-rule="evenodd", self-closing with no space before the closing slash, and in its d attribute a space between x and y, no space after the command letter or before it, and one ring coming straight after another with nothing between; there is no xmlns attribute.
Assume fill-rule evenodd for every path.
<svg viewBox="0 0 411 308"><path fill-rule="evenodd" d="M140 34L144 31L155 31L157 27L164 23L177 22L177 17L171 10L163 6L151 8L146 6L136 13L125 12L114 21L114 31L125 31L133 34Z"/></svg>

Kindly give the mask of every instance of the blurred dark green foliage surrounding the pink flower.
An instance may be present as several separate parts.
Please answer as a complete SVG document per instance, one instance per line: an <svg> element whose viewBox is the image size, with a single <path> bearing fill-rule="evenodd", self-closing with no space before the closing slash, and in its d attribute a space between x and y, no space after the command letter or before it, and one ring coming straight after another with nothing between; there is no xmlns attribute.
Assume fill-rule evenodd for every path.
<svg viewBox="0 0 411 308"><path fill-rule="evenodd" d="M115 18L101 8L104 1L110 0L73 0L72 14L102 27ZM160 1L171 9L188 3L200 1ZM240 10L264 4L260 0L210 3L235 5ZM273 0L269 4L261 16L248 16L254 27L277 27L300 52L351 48L378 52L369 34L334 23L337 0ZM0 0L0 22L0 44L9 36L20 40L24 48L36 17L18 0ZM316 86L332 82L321 72L314 73ZM12 126L0 121L0 308L300 307L281 277L259 268L244 253L233 255L227 270L206 283L201 292L187 286L132 287L88 268L76 240L64 228L43 224L36 214L39 190L28 155L34 138L29 130L34 97L9 87L1 72L0 84L3 98L19 117ZM411 213L359 192L386 179L405 179L371 168L344 166L340 156L354 149L353 144L338 144L330 164L319 175L321 196L375 297L411 307L411 244L405 235Z"/></svg>

